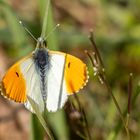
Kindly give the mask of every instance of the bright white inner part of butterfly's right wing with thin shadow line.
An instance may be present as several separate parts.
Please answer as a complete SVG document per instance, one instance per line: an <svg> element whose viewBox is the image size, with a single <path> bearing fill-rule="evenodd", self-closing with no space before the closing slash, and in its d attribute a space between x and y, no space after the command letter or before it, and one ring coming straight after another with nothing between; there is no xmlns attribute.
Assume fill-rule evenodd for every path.
<svg viewBox="0 0 140 140"><path fill-rule="evenodd" d="M64 80L65 56L50 54L50 69L47 75L47 109L57 111L67 100L66 84Z"/></svg>

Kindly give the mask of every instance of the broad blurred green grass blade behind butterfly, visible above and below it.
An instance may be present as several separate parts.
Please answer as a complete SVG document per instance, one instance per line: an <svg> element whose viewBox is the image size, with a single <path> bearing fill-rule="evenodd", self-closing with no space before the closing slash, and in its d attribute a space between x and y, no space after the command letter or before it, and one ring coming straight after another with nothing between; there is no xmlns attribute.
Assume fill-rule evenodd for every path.
<svg viewBox="0 0 140 140"><path fill-rule="evenodd" d="M51 2L51 1L50 1ZM39 10L40 10L40 17L43 21L43 34L47 36L52 29L55 27L53 14L52 14L52 7L51 3L49 5L49 9L47 8L48 2L46 0L38 0ZM46 7L44 7L44 5ZM45 9L46 8L46 9ZM46 10L46 11L45 11ZM48 10L48 11L47 11ZM48 17L44 17L44 13L47 13ZM46 16L46 15L45 15ZM49 49L52 50L59 50L58 38L56 35L56 30L51 33L51 35L47 38L47 43ZM68 140L68 127L66 124L65 113L63 110L58 111L56 113L47 113L46 118L54 131L58 140Z"/></svg>

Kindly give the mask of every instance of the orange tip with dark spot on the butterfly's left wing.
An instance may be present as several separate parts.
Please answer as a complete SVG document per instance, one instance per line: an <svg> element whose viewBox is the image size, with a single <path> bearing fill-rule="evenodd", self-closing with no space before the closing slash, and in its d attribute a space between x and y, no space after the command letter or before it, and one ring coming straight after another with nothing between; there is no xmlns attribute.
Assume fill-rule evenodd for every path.
<svg viewBox="0 0 140 140"><path fill-rule="evenodd" d="M13 65L4 76L2 83L2 94L16 102L26 101L26 85L19 63Z"/></svg>

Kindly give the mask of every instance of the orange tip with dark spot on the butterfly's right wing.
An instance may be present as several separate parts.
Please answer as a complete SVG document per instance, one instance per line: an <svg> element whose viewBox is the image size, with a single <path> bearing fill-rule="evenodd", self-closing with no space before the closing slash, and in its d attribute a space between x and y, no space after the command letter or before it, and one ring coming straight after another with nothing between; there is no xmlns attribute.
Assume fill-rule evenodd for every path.
<svg viewBox="0 0 140 140"><path fill-rule="evenodd" d="M88 81L86 64L80 59L66 54L64 77L68 93L78 92Z"/></svg>

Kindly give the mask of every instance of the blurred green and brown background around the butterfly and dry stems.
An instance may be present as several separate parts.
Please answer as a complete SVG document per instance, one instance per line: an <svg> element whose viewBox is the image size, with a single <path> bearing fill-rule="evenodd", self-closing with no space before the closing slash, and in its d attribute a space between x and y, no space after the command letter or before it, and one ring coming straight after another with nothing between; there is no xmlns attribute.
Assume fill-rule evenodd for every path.
<svg viewBox="0 0 140 140"><path fill-rule="evenodd" d="M38 38L44 3L45 0L0 0L0 78L14 62L35 48L36 42L19 20ZM139 140L140 0L52 0L47 33L57 23L60 27L48 38L49 49L73 54L88 65L90 79L78 98L85 110L91 139L127 139L116 107L106 87L93 76L91 63L84 53L84 50L93 51L88 39L93 29L108 81L123 112L127 108L129 73L134 75L132 94L136 98L132 103L129 127L133 139ZM74 97L70 100L76 104ZM30 113L22 105L0 97L0 112L1 140L43 139L44 132L37 119L29 117ZM85 139L87 127L81 115L80 111L70 110L69 104L57 113L48 113L47 122L55 139Z"/></svg>

